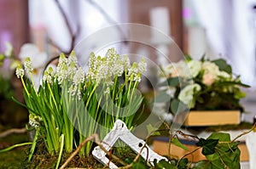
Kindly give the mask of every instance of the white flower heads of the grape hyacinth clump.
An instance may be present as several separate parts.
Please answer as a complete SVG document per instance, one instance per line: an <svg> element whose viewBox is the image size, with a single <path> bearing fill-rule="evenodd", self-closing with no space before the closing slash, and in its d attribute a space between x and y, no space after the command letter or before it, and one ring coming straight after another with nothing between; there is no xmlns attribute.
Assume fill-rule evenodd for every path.
<svg viewBox="0 0 256 169"><path fill-rule="evenodd" d="M52 84L58 82L59 85L64 83L70 85L68 92L73 96L78 95L81 99L81 89L85 81L104 82L107 85L106 93L109 93L109 87L113 85L113 78L122 76L124 73L130 81L141 81L142 74L146 71L145 59L139 63L133 63L131 66L129 58L125 55L120 57L114 48L108 49L104 58L95 54L90 54L89 70L85 76L84 70L79 66L76 54L72 52L67 58L65 54L61 54L59 63L54 71L50 66L44 71L43 82ZM25 61L25 70L32 72L32 62L29 58ZM21 77L24 75L24 70L19 66L16 69L16 75ZM88 79L85 80L85 77Z"/></svg>

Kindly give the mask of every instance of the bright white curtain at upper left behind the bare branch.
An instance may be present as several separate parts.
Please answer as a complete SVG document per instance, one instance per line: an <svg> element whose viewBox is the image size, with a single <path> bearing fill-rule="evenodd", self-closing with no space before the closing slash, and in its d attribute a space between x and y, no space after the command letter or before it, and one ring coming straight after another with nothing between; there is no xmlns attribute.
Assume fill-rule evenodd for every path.
<svg viewBox="0 0 256 169"><path fill-rule="evenodd" d="M84 37L90 36L97 30L113 25L107 19L111 19L113 22L120 20L118 0L59 0L59 2L71 24L73 34L77 37L75 44L83 41ZM30 25L44 27L48 37L63 50L62 52L69 50L72 39L55 0L30 0L29 6ZM100 41L100 39L97 40ZM93 43L91 46L97 45L96 42L91 43Z"/></svg>

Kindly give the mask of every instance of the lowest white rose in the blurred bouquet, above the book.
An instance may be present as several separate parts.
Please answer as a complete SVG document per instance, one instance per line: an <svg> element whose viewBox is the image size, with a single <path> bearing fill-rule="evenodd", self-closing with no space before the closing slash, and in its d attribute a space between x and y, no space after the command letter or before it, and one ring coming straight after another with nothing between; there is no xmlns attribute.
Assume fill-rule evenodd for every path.
<svg viewBox="0 0 256 169"><path fill-rule="evenodd" d="M178 99L183 102L183 104L187 104L189 108L193 108L195 106L194 93L197 93L201 90L201 86L197 83L190 84L184 87L180 93L178 94Z"/></svg>

